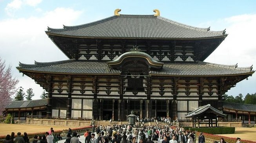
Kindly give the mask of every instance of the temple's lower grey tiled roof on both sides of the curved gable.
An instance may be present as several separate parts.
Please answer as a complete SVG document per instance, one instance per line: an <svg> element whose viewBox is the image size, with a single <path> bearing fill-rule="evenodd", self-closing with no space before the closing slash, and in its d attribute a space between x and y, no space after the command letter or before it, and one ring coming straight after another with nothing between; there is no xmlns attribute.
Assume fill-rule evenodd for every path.
<svg viewBox="0 0 256 143"><path fill-rule="evenodd" d="M149 75L166 76L218 76L252 74L252 67L237 68L237 65L220 65L198 61L197 63L165 63L161 70L151 70ZM22 64L17 67L20 71L89 74L89 75L117 75L120 70L111 69L105 62L66 60L51 63Z"/></svg>

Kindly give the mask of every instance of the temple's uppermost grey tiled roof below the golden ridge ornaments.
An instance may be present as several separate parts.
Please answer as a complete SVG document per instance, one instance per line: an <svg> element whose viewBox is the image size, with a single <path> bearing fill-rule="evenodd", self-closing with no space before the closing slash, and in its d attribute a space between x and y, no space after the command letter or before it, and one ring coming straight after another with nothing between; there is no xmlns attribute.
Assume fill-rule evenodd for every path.
<svg viewBox="0 0 256 143"><path fill-rule="evenodd" d="M46 31L49 35L80 38L200 39L226 37L225 30L210 31L154 15L111 16L99 21Z"/></svg>

